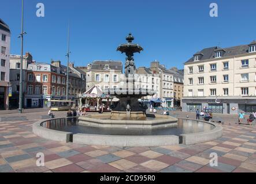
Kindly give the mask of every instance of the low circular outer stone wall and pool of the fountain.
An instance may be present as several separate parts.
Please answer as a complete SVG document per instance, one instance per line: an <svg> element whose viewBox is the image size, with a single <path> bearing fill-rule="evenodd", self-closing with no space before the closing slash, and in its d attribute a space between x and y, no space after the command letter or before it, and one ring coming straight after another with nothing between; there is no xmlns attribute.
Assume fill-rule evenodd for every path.
<svg viewBox="0 0 256 184"><path fill-rule="evenodd" d="M218 124L186 118L179 118L177 123L177 127L169 128L121 129L79 125L77 118L56 118L36 122L33 132L54 141L116 147L196 144L222 136L222 127Z"/></svg>

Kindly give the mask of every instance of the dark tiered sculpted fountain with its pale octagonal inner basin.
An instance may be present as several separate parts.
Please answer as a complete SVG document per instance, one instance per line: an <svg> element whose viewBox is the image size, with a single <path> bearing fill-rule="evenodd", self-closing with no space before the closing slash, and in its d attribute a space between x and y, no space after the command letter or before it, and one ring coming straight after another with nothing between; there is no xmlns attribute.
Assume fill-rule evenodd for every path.
<svg viewBox="0 0 256 184"><path fill-rule="evenodd" d="M158 128L177 125L177 119L174 117L147 115L147 105L138 101L142 97L154 95L155 91L135 88L136 66L133 56L134 53L143 51L143 48L139 44L132 43L134 37L131 33L126 37L126 40L127 43L117 47L117 51L125 53L127 56L125 59L125 78L120 81L120 88L103 91L104 94L113 95L120 101L112 106L111 114L90 114L86 117L79 117L79 124L107 128Z"/></svg>

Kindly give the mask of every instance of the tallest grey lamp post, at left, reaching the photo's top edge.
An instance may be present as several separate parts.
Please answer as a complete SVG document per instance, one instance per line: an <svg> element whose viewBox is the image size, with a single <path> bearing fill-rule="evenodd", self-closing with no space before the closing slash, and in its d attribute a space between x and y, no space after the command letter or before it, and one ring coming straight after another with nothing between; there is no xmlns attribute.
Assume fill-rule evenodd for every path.
<svg viewBox="0 0 256 184"><path fill-rule="evenodd" d="M19 101L18 101L18 113L22 113L23 108L23 36L27 34L23 30L23 20L24 20L24 0L21 1L21 59L20 59L20 91L19 91Z"/></svg>

